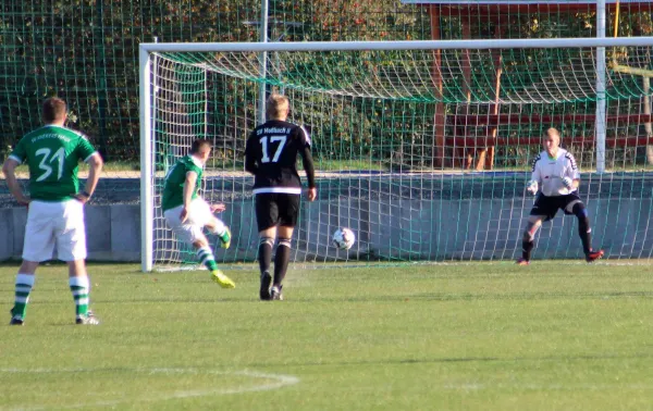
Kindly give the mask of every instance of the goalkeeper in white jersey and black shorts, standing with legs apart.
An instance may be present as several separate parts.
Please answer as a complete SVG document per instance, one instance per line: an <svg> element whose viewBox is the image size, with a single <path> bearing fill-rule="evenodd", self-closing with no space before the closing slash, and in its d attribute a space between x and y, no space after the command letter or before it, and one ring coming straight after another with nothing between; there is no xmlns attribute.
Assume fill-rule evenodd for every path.
<svg viewBox="0 0 653 411"><path fill-rule="evenodd" d="M582 242L586 261L592 262L603 257L603 250L593 251L591 247L590 219L588 210L578 196L580 173L576 159L570 152L559 147L560 134L549 128L544 136L544 151L533 161L531 180L527 190L538 195L531 209L522 239L522 254L517 264L528 265L534 246L535 233L543 221L552 220L562 209L565 214L574 214L578 219L578 235ZM538 194L538 190L541 191Z"/></svg>

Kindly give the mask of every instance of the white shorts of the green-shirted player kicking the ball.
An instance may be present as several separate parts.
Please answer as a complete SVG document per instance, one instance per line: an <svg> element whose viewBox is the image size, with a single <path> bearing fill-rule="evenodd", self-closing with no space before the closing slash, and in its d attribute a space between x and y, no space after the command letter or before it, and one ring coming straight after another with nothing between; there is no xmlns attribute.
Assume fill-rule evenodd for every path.
<svg viewBox="0 0 653 411"><path fill-rule="evenodd" d="M183 208L184 205L178 205L167 210L163 215L176 237L188 245L206 238L202 229L211 221L215 220L218 225L222 224L211 212L209 203L199 197L190 202L188 219L184 223L180 219ZM219 228L218 231L220 232L221 229Z"/></svg>

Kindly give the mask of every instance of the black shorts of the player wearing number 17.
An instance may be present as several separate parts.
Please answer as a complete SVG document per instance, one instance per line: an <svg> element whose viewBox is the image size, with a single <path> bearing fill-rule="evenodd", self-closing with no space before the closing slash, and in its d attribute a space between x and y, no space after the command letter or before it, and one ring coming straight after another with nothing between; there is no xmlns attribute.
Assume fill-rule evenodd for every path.
<svg viewBox="0 0 653 411"><path fill-rule="evenodd" d="M278 225L294 227L299 216L299 195L262 192L256 195L256 222L259 232Z"/></svg>

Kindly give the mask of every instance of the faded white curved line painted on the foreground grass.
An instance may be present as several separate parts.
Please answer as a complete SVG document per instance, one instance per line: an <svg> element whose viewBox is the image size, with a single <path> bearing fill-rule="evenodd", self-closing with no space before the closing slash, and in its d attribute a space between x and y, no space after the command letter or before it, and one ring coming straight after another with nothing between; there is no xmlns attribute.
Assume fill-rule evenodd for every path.
<svg viewBox="0 0 653 411"><path fill-rule="evenodd" d="M0 374L60 374L60 373L93 373L93 372L111 372L111 369L0 369ZM125 371L125 369L121 369ZM256 393L256 391L269 391L279 389L284 386L295 385L299 383L299 378L293 375L282 374L268 374L260 373L257 371L218 371L218 370L198 370L198 369L133 369L130 370L135 373L143 374L209 374L209 375L234 375L234 376L247 376L252 379L272 379L270 383L257 384L249 387L235 387L235 388L215 388L215 389L194 389L183 391L172 391L168 394L157 394L156 397L141 397L141 398L124 398L108 401L91 401L83 403L70 403L63 409L77 409L86 407L113 407L125 402L152 402L152 401L165 401L171 399L183 399L183 398L195 398L195 397L209 397L209 396L221 396L221 395L233 395L244 393ZM51 409L52 404L42 406L29 406L21 408L12 408L10 410L48 410ZM2 408L0 408L2 409Z"/></svg>

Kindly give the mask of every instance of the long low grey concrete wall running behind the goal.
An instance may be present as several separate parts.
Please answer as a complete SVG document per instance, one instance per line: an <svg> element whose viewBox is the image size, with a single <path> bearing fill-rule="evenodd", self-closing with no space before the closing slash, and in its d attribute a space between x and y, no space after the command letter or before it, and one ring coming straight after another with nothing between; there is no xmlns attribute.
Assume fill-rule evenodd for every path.
<svg viewBox="0 0 653 411"><path fill-rule="evenodd" d="M479 208L479 201L483 207ZM652 198L590 201L594 247L611 258L651 258ZM304 202L293 246L296 261L330 260L489 260L520 256L521 233L532 199L340 200ZM227 204L221 217L234 234L222 261L254 261L258 234L251 201ZM26 221L24 208L0 209L0 260L20 259ZM161 224L161 223L159 223ZM356 245L347 253L330 246L338 226L352 227ZM534 258L580 258L582 250L574 216L559 211L538 234ZM137 204L86 208L88 260L139 261L140 216ZM174 239L158 239L161 248L176 249ZM168 258L177 251L160 253ZM190 259L193 256L189 257Z"/></svg>

